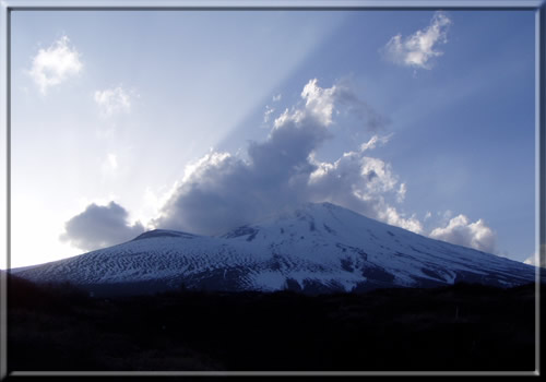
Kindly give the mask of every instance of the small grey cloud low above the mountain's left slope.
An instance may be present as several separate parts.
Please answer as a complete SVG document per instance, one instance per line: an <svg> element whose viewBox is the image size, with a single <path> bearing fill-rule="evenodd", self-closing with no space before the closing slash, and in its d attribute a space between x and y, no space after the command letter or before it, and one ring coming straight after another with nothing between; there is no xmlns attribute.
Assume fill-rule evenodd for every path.
<svg viewBox="0 0 546 382"><path fill-rule="evenodd" d="M129 225L128 216L129 213L115 202L105 206L92 203L64 224L66 232L60 240L84 251L119 244L144 231L140 222Z"/></svg>

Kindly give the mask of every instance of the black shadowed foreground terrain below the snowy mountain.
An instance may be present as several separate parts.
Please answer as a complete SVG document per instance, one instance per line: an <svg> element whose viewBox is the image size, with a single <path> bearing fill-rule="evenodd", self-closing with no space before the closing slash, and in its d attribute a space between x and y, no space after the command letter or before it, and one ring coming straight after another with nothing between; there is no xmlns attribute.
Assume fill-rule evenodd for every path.
<svg viewBox="0 0 546 382"><path fill-rule="evenodd" d="M9 370L529 370L534 285L91 298L11 278Z"/></svg>

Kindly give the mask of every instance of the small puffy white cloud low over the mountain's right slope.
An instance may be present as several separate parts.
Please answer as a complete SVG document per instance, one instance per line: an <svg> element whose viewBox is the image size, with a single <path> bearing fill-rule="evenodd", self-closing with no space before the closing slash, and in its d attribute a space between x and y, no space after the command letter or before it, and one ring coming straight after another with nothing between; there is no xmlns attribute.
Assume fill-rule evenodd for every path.
<svg viewBox="0 0 546 382"><path fill-rule="evenodd" d="M496 235L483 219L471 223L465 215L458 215L449 220L447 227L438 227L431 238L494 253L496 251Z"/></svg>

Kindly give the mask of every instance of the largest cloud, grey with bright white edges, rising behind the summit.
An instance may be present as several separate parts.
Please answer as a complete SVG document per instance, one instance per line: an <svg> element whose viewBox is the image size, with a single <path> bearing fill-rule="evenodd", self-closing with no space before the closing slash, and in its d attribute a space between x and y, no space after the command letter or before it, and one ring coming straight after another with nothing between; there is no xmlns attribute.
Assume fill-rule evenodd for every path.
<svg viewBox="0 0 546 382"><path fill-rule="evenodd" d="M339 83L323 88L311 80L301 98L300 105L275 119L265 141L249 144L247 159L211 151L187 166L182 181L153 225L223 234L308 201L331 201L377 216L379 207L373 203L382 203L383 208L380 194L395 193L396 180L388 164L366 157L364 152L388 138L372 138L361 151L346 153L335 163L314 159L314 151L332 136L330 127L337 107L360 116L371 109ZM371 130L377 126L365 127Z"/></svg>

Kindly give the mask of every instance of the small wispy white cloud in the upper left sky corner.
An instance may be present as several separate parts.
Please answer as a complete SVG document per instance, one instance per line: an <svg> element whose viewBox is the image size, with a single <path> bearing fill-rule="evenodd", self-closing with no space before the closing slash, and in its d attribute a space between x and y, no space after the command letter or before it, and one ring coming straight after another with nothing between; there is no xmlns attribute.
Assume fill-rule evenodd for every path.
<svg viewBox="0 0 546 382"><path fill-rule="evenodd" d="M49 48L39 49L34 57L28 74L41 94L46 94L48 87L59 85L81 72L83 68L80 61L81 55L69 46L69 41L67 36L62 36Z"/></svg>

